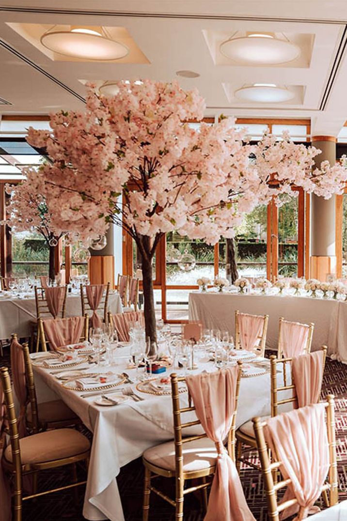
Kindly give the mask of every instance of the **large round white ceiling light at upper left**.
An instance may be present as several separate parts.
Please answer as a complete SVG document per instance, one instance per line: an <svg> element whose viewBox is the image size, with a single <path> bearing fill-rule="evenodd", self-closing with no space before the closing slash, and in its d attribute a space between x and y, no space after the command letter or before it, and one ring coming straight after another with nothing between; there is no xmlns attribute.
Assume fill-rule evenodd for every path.
<svg viewBox="0 0 347 521"><path fill-rule="evenodd" d="M88 60L116 60L129 53L128 47L112 40L103 27L71 26L69 31L53 28L40 41L54 53Z"/></svg>

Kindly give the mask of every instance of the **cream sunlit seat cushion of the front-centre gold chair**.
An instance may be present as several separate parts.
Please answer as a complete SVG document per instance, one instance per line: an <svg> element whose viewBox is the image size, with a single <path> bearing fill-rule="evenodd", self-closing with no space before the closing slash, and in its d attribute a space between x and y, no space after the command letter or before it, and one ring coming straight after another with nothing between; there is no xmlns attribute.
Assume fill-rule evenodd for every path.
<svg viewBox="0 0 347 521"><path fill-rule="evenodd" d="M183 470L193 472L216 465L217 449L209 438L183 443ZM175 443L168 441L147 449L143 458L165 470L175 470Z"/></svg>

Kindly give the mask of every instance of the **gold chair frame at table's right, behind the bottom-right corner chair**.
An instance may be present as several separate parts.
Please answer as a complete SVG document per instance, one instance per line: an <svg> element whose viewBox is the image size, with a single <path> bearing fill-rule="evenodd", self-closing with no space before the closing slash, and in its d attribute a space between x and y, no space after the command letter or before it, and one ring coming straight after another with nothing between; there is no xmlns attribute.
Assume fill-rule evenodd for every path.
<svg viewBox="0 0 347 521"><path fill-rule="evenodd" d="M327 355L327 346L322 346L322 351L324 353L323 357L323 371L325 367L326 355ZM293 406L297 406L296 399L296 387L295 384L290 382L288 383L288 367L291 367L290 363L293 358L276 358L275 355L270 356L270 381L271 381L271 416L277 416L279 407L292 403ZM278 367L280 366L280 369ZM279 385L278 375L283 375L283 384ZM291 393L291 396L287 398L279 399L279 393L286 392L286 394ZM269 417L269 416L268 416ZM262 420L266 420L268 417L261 418ZM245 452L252 451L257 448L257 441L255 437L255 432L253 429L252 420L246 421L241 427L236 430L236 467L237 470L240 470L240 463L244 463L250 467L256 468L259 470L259 467L254 463L246 460L242 457L242 454ZM243 444L247 445L248 449L243 450Z"/></svg>

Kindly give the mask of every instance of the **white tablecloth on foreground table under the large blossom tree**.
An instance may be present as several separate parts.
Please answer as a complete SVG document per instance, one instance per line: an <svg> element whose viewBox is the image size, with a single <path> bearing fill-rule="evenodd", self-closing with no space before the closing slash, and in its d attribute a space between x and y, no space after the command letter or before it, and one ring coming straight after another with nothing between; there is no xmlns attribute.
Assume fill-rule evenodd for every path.
<svg viewBox="0 0 347 521"><path fill-rule="evenodd" d="M35 355L31 355L34 357ZM135 369L129 369L129 346L116 350L115 366L106 370L121 374L126 371L135 380ZM196 371L216 370L208 359L198 362ZM105 368L88 365L89 371L105 371ZM172 371L167 370L170 374ZM180 373L180 370L175 372ZM38 401L61 398L93 432L88 480L83 506L83 516L91 520L109 518L123 521L122 502L116 476L122 466L142 455L153 445L173 439L171 395L152 395L140 392L131 386L144 400L128 399L123 404L103 407L94 403L95 396L82 398L83 391L66 389L54 373L43 367L34 366L35 386ZM160 375L162 376L162 375ZM126 386L125 386L126 387ZM115 390L116 392L116 390ZM113 396L113 394L107 394ZM254 397L257 396L255 400ZM187 405L187 393L181 394L182 403ZM236 416L236 427L257 415L270 414L270 374L261 374L241 379L240 396ZM196 419L195 413L185 416L185 421ZM190 428L190 433L201 433L201 426ZM185 433L188 435L187 430Z"/></svg>

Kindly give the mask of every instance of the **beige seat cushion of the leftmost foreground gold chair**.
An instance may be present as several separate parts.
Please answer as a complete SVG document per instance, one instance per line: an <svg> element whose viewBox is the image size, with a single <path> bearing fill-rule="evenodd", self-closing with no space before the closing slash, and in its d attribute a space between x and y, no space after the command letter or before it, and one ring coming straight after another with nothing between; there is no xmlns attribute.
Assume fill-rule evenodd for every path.
<svg viewBox="0 0 347 521"><path fill-rule="evenodd" d="M22 465L61 460L90 449L89 440L74 429L47 430L21 438L19 444ZM6 447L4 457L12 462L11 445Z"/></svg>

